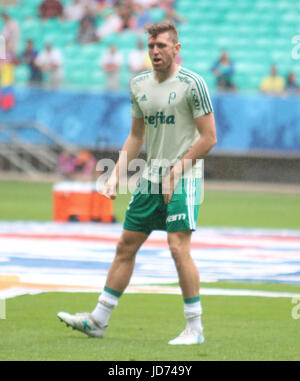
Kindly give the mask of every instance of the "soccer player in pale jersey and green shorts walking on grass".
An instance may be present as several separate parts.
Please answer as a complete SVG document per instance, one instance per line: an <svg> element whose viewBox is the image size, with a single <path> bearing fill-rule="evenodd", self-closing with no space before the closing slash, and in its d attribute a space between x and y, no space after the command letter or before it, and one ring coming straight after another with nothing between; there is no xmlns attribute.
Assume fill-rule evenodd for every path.
<svg viewBox="0 0 300 381"><path fill-rule="evenodd" d="M200 279L190 254L203 197L203 158L216 144L213 108L203 79L176 64L181 44L175 26L148 29L153 69L131 80L132 126L103 193L114 199L119 178L146 142L147 163L126 211L104 291L92 313L58 317L91 337L103 337L112 310L129 284L135 256L153 230L166 230L184 301L186 328L169 344L204 342ZM167 164L166 164L167 163ZM124 172L125 171L125 172Z"/></svg>

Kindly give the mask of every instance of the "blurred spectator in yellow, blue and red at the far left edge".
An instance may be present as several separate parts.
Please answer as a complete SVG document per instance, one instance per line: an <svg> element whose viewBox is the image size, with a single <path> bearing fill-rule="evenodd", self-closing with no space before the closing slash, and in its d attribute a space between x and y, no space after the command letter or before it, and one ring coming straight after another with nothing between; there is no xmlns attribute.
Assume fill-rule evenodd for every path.
<svg viewBox="0 0 300 381"><path fill-rule="evenodd" d="M13 89L15 56L7 41L5 49L5 59L0 60L0 107L2 110L10 110L15 105Z"/></svg>

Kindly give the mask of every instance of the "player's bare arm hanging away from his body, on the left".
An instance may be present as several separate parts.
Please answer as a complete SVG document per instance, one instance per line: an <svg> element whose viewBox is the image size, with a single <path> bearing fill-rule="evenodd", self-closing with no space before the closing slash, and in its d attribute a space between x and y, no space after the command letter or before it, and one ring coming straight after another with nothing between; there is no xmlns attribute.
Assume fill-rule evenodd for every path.
<svg viewBox="0 0 300 381"><path fill-rule="evenodd" d="M145 126L143 118L132 118L131 130L126 139L119 160L103 188L103 195L111 200L117 197L119 180L127 175L131 160L136 159L145 142Z"/></svg>

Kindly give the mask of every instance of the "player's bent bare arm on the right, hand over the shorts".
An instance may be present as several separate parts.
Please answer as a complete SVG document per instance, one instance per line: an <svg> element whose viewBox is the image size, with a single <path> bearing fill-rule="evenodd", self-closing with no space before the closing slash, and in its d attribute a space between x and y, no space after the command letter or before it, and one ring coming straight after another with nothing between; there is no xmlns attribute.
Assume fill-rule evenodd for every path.
<svg viewBox="0 0 300 381"><path fill-rule="evenodd" d="M183 156L183 158L174 165L168 178L165 179L164 199L166 203L171 201L174 189L176 188L183 171L189 170L197 162L197 160L203 159L217 144L217 134L213 112L195 118L194 121L200 133L200 138Z"/></svg>

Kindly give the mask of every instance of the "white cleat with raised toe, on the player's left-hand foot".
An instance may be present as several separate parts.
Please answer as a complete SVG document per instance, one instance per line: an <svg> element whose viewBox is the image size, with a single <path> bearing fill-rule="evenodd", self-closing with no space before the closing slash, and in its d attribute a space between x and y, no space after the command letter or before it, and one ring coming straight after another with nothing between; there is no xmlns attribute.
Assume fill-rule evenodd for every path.
<svg viewBox="0 0 300 381"><path fill-rule="evenodd" d="M77 329L89 337L102 338L107 327L101 326L88 312L75 315L71 315L67 312L59 312L57 317L60 321L66 323L67 327L71 326L73 329Z"/></svg>

